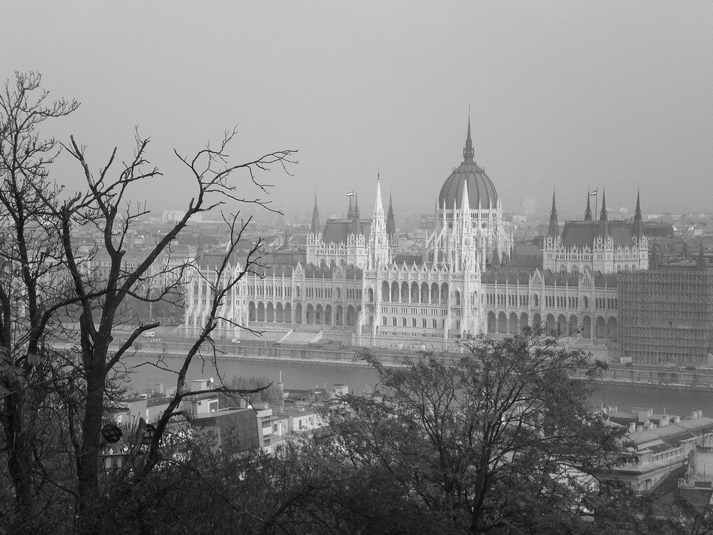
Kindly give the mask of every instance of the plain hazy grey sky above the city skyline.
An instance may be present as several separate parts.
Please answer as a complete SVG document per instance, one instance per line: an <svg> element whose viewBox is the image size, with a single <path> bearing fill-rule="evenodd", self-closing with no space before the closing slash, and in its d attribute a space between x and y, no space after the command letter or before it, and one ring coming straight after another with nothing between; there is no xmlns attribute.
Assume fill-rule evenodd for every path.
<svg viewBox="0 0 713 535"><path fill-rule="evenodd" d="M377 172L395 210L431 211L470 106L505 210L544 212L554 187L560 218L581 217L605 185L610 208L640 187L645 213L713 211L713 2L5 1L2 17L0 77L40 71L81 101L56 136L96 165L128 158L135 126L150 136L156 208L193 191L172 149L237 125L236 159L299 150L293 177L269 175L288 217L317 193L324 220L352 188L368 215Z"/></svg>

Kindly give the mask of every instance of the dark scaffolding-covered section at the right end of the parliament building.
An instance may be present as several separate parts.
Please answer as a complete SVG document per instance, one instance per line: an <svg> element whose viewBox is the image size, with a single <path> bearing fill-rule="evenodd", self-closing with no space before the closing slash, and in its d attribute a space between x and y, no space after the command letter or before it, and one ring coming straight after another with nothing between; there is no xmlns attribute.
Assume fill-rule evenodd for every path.
<svg viewBox="0 0 713 535"><path fill-rule="evenodd" d="M622 362L697 366L713 350L713 273L702 270L620 274Z"/></svg>

